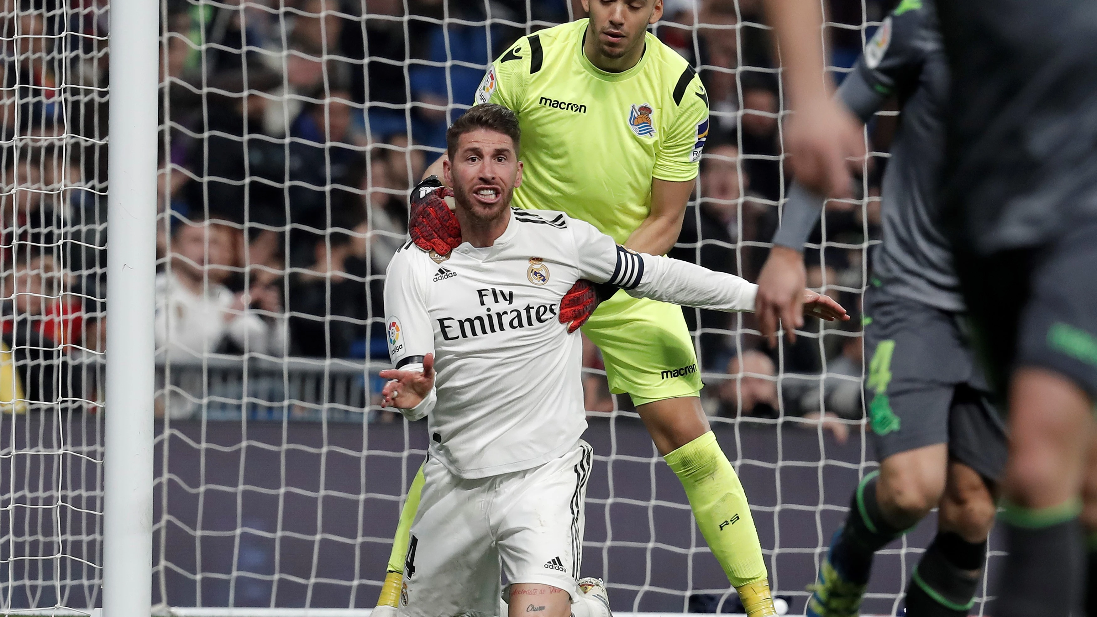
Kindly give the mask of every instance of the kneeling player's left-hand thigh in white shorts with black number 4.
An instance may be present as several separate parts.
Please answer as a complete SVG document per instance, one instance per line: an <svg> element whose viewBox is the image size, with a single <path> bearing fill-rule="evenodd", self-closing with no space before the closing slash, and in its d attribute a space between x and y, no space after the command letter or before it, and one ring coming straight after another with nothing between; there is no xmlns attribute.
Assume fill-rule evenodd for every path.
<svg viewBox="0 0 1097 617"><path fill-rule="evenodd" d="M480 507L489 481L461 480L437 460L423 465L423 475L398 614L495 615L499 557Z"/></svg>

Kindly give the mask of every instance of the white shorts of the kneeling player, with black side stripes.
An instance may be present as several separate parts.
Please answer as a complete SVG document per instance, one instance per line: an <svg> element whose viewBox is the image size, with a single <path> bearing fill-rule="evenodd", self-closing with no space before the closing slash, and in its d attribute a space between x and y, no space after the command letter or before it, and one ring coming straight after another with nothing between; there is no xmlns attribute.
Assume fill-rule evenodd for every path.
<svg viewBox="0 0 1097 617"><path fill-rule="evenodd" d="M428 458L398 615L497 615L500 565L508 584L574 593L592 453L580 439L540 467L477 480Z"/></svg>

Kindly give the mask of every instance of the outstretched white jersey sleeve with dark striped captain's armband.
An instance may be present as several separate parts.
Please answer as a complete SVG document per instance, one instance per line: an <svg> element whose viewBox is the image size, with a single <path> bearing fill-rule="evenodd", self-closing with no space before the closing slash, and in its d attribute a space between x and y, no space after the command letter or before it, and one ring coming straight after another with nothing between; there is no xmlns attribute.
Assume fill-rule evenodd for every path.
<svg viewBox="0 0 1097 617"><path fill-rule="evenodd" d="M727 312L754 310L754 283L681 260L636 253L588 222L568 222L579 271L588 281L609 283L636 298Z"/></svg>

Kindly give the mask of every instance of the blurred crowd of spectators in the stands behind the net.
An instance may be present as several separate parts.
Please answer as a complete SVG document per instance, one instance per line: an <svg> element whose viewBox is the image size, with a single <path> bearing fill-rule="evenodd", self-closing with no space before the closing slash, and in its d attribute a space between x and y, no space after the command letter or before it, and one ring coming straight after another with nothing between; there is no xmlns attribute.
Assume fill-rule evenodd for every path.
<svg viewBox="0 0 1097 617"><path fill-rule="evenodd" d="M13 350L38 350L78 366L102 352L106 2L0 1L0 354L22 367L35 358L9 358ZM871 35L861 24L879 21L890 3L830 2L836 79ZM671 256L751 281L792 180L781 161L783 105L761 8L760 0L666 0L654 28L700 67L713 118ZM488 62L528 31L581 15L578 0L162 0L160 352L179 362L387 357L383 275L406 238L409 188L441 152L445 127L472 103ZM873 150L886 150L893 121L875 122ZM860 418L859 293L863 247L879 236L884 162L873 159L859 201L828 204L807 250L808 284L849 308L853 325L808 320L794 344L770 344L754 334L749 315L686 310L712 414L826 409ZM585 363L596 369L588 408L627 408L597 375L592 345ZM81 370L61 373L24 369L22 387L43 400L94 388Z"/></svg>

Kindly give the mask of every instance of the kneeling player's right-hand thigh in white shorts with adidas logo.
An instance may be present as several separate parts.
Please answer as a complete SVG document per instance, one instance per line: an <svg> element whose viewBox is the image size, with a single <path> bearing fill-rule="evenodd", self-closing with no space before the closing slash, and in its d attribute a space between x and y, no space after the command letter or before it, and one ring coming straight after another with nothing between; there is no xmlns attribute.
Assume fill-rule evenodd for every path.
<svg viewBox="0 0 1097 617"><path fill-rule="evenodd" d="M592 449L586 442L501 483L493 527L508 584L575 590L583 565L584 502Z"/></svg>

